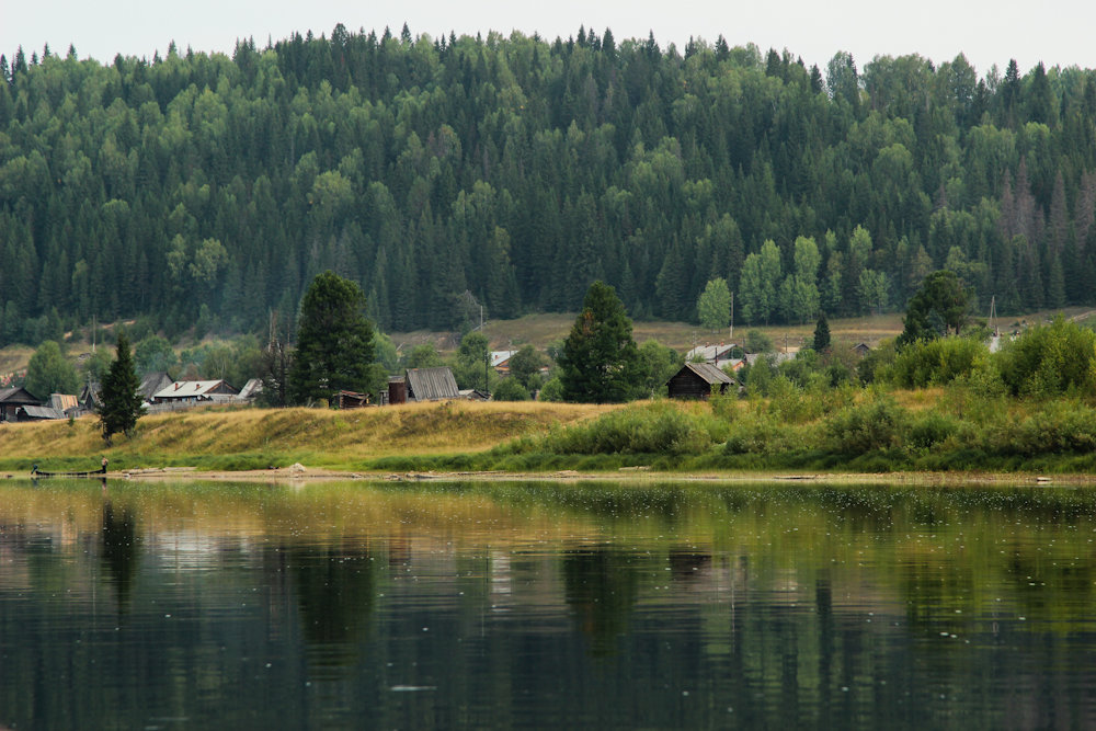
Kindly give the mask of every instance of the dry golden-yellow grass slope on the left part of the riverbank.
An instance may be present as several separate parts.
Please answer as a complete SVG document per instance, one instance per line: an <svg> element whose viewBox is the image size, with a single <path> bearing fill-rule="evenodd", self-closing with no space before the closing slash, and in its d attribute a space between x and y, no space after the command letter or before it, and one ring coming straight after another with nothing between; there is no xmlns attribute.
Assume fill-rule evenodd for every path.
<svg viewBox="0 0 1096 731"><path fill-rule="evenodd" d="M0 425L0 470L193 466L264 469L301 462L369 469L396 456L475 455L516 436L597 416L614 407L560 403L415 403L384 409L196 409L145 416L132 439L104 446L94 418ZM457 457L449 457L457 459Z"/></svg>

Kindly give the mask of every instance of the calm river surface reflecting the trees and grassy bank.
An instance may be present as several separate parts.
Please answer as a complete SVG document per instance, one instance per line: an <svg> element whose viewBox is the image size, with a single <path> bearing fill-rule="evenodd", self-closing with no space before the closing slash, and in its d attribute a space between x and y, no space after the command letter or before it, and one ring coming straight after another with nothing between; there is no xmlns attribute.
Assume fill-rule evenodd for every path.
<svg viewBox="0 0 1096 731"><path fill-rule="evenodd" d="M9 480L0 728L1093 727L1094 504Z"/></svg>

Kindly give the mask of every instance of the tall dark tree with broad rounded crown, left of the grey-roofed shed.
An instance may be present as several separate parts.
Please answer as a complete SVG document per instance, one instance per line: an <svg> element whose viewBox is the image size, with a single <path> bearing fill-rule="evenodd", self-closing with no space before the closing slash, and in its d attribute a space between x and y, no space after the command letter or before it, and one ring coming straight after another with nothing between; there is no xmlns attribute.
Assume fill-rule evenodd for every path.
<svg viewBox="0 0 1096 731"><path fill-rule="evenodd" d="M369 390L373 325L364 312L365 295L354 282L330 271L312 279L300 304L289 369L293 402L331 402L340 390Z"/></svg>

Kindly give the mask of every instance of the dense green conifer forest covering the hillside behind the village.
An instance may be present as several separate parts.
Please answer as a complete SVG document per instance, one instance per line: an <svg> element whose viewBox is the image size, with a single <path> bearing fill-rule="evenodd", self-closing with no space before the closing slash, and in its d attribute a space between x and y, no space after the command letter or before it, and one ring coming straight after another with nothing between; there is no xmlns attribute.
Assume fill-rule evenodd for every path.
<svg viewBox="0 0 1096 731"><path fill-rule="evenodd" d="M1096 73L825 68L654 37L294 35L231 58L0 59L0 344L295 313L324 270L385 330L574 310L739 322L1096 302Z"/></svg>

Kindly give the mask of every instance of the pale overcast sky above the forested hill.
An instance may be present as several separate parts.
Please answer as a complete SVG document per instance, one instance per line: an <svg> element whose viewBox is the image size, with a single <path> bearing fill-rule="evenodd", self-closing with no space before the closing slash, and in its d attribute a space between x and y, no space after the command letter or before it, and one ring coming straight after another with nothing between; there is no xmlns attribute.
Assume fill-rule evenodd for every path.
<svg viewBox="0 0 1096 731"><path fill-rule="evenodd" d="M808 66L847 50L858 68L877 55L920 54L936 64L960 52L979 76L992 65L1004 71L1015 58L1020 71L1040 60L1052 66L1096 68L1096 3L1083 0L1032 5L1019 0L418 0L363 2L350 0L49 0L5 2L0 13L0 53L14 56L23 46L42 55L48 43L64 54L75 45L80 58L110 62L116 54L151 58L179 49L231 54L237 38L256 45L277 42L293 32L311 30L330 36L336 23L354 32L379 34L388 25L398 34L407 22L412 34L437 37L498 31L509 35L534 32L549 39L567 38L579 26L598 34L613 30L617 43L646 39L653 32L660 46L684 50L690 36L709 42L722 34L732 46L754 43L763 52L788 49Z"/></svg>

